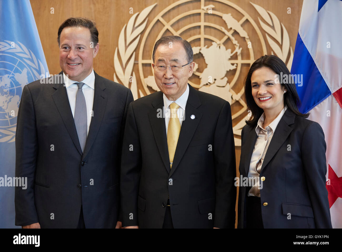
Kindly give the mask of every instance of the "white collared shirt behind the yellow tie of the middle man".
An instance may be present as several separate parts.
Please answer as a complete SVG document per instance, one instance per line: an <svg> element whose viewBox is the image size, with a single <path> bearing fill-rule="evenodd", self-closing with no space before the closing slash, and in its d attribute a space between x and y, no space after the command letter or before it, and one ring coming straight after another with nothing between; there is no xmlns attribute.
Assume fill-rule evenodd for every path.
<svg viewBox="0 0 342 252"><path fill-rule="evenodd" d="M177 109L177 116L178 116L179 122L182 126L184 113L185 113L185 106L186 106L186 102L188 100L188 97L189 97L189 85L188 84L186 84L185 92L181 95L181 97L179 97L175 101L169 100L166 97L166 95L163 94L166 134L168 134L168 126L169 126L169 121L170 121L170 116L171 116L170 104L175 102L176 104L178 104L180 106L180 108Z"/></svg>

